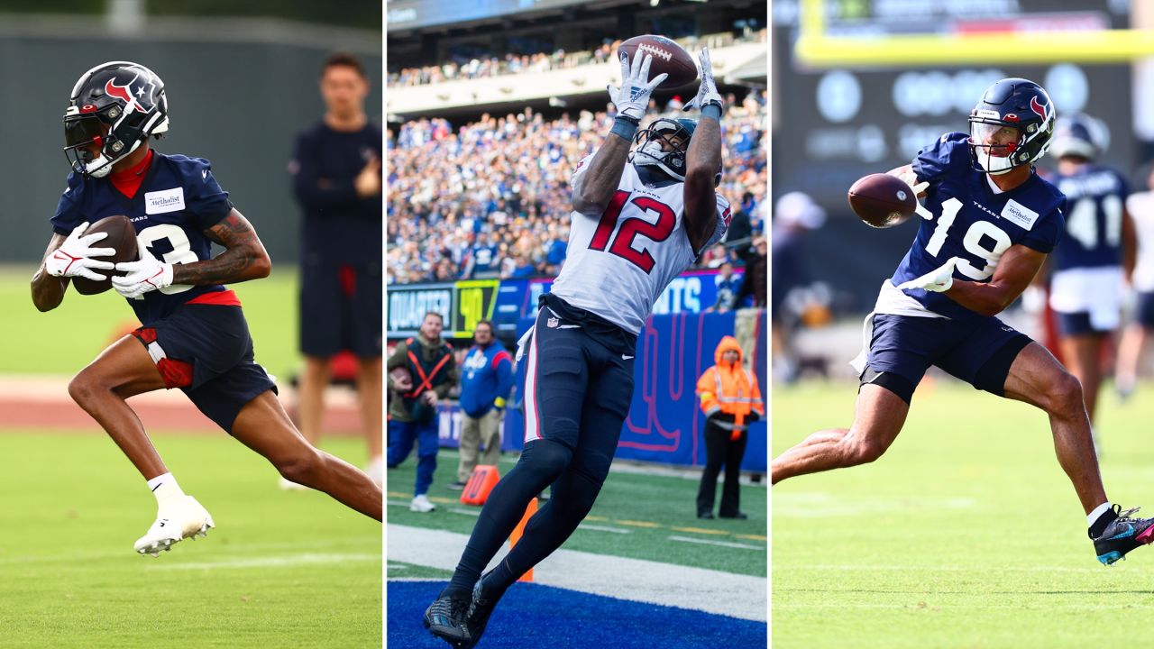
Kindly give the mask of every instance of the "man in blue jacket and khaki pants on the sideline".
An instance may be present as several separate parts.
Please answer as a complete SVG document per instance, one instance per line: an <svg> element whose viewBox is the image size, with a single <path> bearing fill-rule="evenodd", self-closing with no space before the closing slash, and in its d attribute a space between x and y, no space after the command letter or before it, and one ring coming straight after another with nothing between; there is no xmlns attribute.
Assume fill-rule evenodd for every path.
<svg viewBox="0 0 1154 649"><path fill-rule="evenodd" d="M481 320L473 330L460 375L460 464L457 482L449 488L463 490L477 467L478 447L485 445L481 464L501 457L501 413L512 387L512 358L493 337L493 323Z"/></svg>

